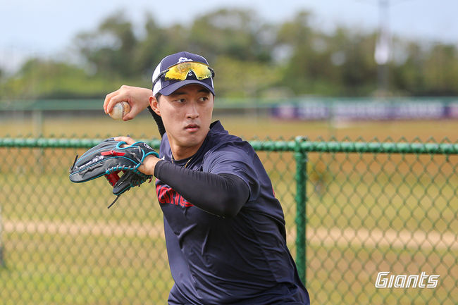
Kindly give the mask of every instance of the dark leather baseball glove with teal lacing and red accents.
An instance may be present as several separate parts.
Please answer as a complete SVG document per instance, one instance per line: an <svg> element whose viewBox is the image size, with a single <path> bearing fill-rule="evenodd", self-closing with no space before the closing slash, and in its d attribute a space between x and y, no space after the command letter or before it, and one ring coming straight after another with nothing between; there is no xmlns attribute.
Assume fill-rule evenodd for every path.
<svg viewBox="0 0 458 305"><path fill-rule="evenodd" d="M145 175L138 170L144 158L149 155L159 156L144 142L128 145L126 142L115 141L114 138L105 139L80 158L76 156L73 166L70 167L70 181L87 182L105 176L113 187L113 194L118 196L109 205L110 208L120 194L151 179L151 175ZM123 174L120 176L121 171Z"/></svg>

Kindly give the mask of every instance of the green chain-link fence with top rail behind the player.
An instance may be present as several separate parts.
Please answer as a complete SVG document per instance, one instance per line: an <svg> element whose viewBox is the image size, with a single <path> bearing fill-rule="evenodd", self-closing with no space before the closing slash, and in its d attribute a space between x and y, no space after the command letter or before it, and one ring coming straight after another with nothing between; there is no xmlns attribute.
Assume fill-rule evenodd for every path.
<svg viewBox="0 0 458 305"><path fill-rule="evenodd" d="M166 304L153 185L68 180L97 142L0 139L0 304ZM312 304L458 303L456 142L252 145Z"/></svg>

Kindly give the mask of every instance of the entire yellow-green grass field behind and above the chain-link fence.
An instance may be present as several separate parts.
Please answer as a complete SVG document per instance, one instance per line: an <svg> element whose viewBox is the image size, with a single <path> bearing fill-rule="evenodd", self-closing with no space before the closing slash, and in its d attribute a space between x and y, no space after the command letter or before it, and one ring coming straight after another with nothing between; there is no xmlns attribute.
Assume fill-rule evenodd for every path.
<svg viewBox="0 0 458 305"><path fill-rule="evenodd" d="M457 141L458 122L333 123L221 118L245 139ZM0 122L2 136L33 134L31 122ZM45 120L44 136L157 137L149 118ZM418 137L418 139L416 139ZM361 140L361 139L359 139ZM166 304L172 285L153 185L114 199L104 180L68 180L74 149L0 148L6 266L0 304ZM259 153L283 204L295 256L292 153ZM312 304L458 302L458 156L309 154L307 287ZM406 237L407 236L407 237ZM378 271L440 275L437 288L377 290Z"/></svg>

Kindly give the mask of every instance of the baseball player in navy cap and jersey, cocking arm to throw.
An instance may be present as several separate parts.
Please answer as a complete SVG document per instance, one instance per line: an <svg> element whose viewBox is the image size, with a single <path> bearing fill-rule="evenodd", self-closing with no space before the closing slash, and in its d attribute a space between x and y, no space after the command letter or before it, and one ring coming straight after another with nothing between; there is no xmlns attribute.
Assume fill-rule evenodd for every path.
<svg viewBox="0 0 458 305"><path fill-rule="evenodd" d="M152 92L123 86L104 102L109 113L128 101L124 120L148 107L159 125L159 158L139 170L157 178L175 282L168 304L309 304L264 166L248 142L211 122L214 75L204 57L180 52L154 70Z"/></svg>

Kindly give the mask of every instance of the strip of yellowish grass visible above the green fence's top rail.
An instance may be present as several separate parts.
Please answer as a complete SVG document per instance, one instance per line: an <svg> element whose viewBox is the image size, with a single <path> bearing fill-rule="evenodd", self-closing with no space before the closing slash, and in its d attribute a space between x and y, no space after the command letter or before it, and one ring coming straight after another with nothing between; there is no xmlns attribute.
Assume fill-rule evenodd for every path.
<svg viewBox="0 0 458 305"><path fill-rule="evenodd" d="M244 139L259 137L264 139L290 139L297 135L317 139L344 139L349 137L356 140L361 137L367 141L378 138L380 141L388 137L397 141L401 138L407 141L419 138L426 142L430 137L441 141L447 137L452 142L457 141L458 120L412 120L412 121L287 121L276 120L263 116L213 116L213 120L221 120L224 127L234 135ZM45 117L42 125L37 125L30 118L11 117L0 120L0 137L6 135L35 135L42 132L45 137L74 135L75 137L100 137L105 135L135 135L141 137L159 137L154 121L149 116L140 116L134 120L123 122L113 120L101 114L98 117Z"/></svg>

